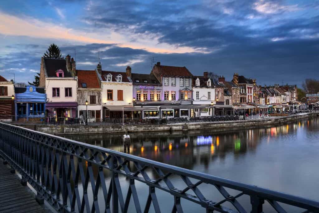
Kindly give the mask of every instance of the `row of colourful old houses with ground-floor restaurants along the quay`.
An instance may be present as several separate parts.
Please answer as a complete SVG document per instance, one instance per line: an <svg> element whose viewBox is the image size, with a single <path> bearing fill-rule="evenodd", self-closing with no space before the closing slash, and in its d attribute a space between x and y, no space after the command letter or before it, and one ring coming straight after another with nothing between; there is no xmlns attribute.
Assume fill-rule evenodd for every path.
<svg viewBox="0 0 319 213"><path fill-rule="evenodd" d="M194 76L186 67L160 62L150 74L132 72L130 66L123 72L106 71L100 63L77 70L70 55L41 58L39 87L14 88L12 81L0 81L0 101L6 104L2 119L197 117L225 113L239 104L297 103L296 85L261 87L238 73L230 81L208 72Z"/></svg>

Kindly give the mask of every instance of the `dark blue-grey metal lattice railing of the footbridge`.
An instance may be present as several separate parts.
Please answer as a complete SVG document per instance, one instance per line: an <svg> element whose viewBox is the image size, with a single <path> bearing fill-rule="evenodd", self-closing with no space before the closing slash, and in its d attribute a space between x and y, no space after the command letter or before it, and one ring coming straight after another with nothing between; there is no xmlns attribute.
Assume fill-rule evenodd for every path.
<svg viewBox="0 0 319 213"><path fill-rule="evenodd" d="M4 123L0 156L58 212L319 212L318 201Z"/></svg>

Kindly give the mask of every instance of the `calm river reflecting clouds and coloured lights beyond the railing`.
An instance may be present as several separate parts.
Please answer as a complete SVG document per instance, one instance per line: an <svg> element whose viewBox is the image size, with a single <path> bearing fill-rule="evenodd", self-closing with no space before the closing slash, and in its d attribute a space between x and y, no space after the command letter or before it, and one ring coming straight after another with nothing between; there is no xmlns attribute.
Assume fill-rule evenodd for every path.
<svg viewBox="0 0 319 213"><path fill-rule="evenodd" d="M122 134L64 137L124 151ZM319 200L319 118L222 133L210 130L147 132L130 133L130 137L132 155ZM140 203L143 208L144 203ZM249 206L249 203L243 201L243 205ZM170 211L172 206L168 206L162 212ZM268 207L268 203L264 205L265 212L272 211ZM194 210L197 207L184 207L185 212ZM296 211L289 207L286 210Z"/></svg>

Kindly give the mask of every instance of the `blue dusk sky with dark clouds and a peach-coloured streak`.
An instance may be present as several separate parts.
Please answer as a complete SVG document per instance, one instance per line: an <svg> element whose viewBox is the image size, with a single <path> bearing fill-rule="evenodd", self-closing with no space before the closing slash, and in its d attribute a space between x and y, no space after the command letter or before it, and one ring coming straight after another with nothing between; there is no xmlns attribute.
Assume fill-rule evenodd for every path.
<svg viewBox="0 0 319 213"><path fill-rule="evenodd" d="M319 0L12 0L0 20L0 75L16 82L34 80L51 43L82 70L101 51L103 70L150 73L160 61L262 86L319 79Z"/></svg>

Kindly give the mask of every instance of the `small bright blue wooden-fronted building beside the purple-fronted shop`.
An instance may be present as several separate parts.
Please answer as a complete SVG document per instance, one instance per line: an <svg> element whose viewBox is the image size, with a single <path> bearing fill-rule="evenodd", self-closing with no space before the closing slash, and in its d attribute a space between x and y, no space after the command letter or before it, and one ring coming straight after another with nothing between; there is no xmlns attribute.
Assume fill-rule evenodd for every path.
<svg viewBox="0 0 319 213"><path fill-rule="evenodd" d="M27 86L15 88L15 116L18 118L44 118L47 96L44 88Z"/></svg>

